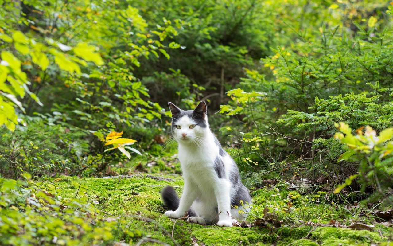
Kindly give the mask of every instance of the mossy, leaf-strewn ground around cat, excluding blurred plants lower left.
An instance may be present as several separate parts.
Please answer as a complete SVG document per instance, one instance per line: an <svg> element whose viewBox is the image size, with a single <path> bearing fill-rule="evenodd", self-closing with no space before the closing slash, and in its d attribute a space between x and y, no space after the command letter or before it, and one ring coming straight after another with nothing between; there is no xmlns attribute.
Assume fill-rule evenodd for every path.
<svg viewBox="0 0 393 246"><path fill-rule="evenodd" d="M153 176L154 175L154 176ZM252 191L248 222L231 228L201 226L164 216L163 187L183 186L178 174L134 174L105 178L62 177L51 180L63 198L84 196L97 220L118 228L113 245L389 245L389 223L375 222L372 211L321 202L321 195L302 196L290 189ZM83 193L77 184L87 187ZM358 209L358 210L356 210Z"/></svg>

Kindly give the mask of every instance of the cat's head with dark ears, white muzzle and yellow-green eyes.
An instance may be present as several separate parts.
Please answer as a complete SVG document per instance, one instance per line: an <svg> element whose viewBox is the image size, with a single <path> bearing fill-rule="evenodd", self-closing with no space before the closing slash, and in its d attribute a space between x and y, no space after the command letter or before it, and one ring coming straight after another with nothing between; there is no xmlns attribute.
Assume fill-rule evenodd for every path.
<svg viewBox="0 0 393 246"><path fill-rule="evenodd" d="M204 101L194 110L182 110L168 103L172 112L172 135L178 143L199 145L209 128L207 107Z"/></svg>

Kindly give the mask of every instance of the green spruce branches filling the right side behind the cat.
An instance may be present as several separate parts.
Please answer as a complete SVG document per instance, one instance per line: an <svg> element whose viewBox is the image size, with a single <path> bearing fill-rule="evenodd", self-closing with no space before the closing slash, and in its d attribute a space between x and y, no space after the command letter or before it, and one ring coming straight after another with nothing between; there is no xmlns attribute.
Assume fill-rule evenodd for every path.
<svg viewBox="0 0 393 246"><path fill-rule="evenodd" d="M294 2L288 4L296 9ZM303 13L314 4L307 1ZM264 147L255 150L252 158L261 172L278 168L290 175L302 170L300 175L311 174L313 180L342 172L349 176L356 167L336 164L343 149L333 138L334 123L345 121L354 129L370 125L377 131L392 127L391 19L375 17L384 4L323 4L329 7L320 11L323 18L338 11L343 13L343 26L337 25L337 18L318 30L293 24L287 36L293 33L296 42L282 43L272 49L275 55L261 59L272 73L246 69L241 88L230 90L231 101L220 107L220 113L237 117L228 121L233 131L261 138ZM364 11L376 6L375 15ZM237 136L235 141L240 139ZM242 147L237 156L248 152Z"/></svg>

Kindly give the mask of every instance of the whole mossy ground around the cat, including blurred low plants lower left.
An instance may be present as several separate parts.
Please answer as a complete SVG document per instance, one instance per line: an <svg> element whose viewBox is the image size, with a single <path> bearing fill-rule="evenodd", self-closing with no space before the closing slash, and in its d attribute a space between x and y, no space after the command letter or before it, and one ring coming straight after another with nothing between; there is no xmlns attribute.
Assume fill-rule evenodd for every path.
<svg viewBox="0 0 393 246"><path fill-rule="evenodd" d="M323 193L302 195L282 185L252 191L247 222L220 228L163 216L160 190L172 185L180 193L183 181L177 174L29 178L0 181L4 245L369 245L392 237L365 207L351 211L328 204ZM353 222L375 224L374 231L340 228Z"/></svg>

